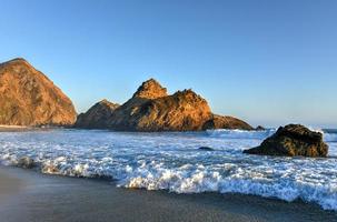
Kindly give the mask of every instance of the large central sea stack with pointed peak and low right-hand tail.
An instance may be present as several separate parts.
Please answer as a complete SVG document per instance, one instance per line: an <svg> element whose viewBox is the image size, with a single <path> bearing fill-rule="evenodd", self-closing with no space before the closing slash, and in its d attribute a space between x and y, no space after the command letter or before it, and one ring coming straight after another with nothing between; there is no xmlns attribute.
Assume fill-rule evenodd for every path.
<svg viewBox="0 0 337 222"><path fill-rule="evenodd" d="M169 95L167 89L155 79L142 82L131 99L110 113L109 118L103 118L106 123L99 127L116 131L146 132L219 128L252 130L241 120L214 114L207 101L192 90L177 91ZM99 111L97 117L99 115L105 113ZM79 117L78 122L81 119ZM83 128L81 124L76 127Z"/></svg>

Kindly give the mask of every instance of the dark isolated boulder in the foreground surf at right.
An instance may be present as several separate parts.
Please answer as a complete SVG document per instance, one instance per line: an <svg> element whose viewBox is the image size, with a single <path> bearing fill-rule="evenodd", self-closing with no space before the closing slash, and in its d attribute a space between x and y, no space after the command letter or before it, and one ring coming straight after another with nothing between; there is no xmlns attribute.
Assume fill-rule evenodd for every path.
<svg viewBox="0 0 337 222"><path fill-rule="evenodd" d="M324 143L320 132L313 132L299 124L289 124L284 128L280 127L274 135L266 139L259 147L245 150L244 153L327 157L328 145Z"/></svg>

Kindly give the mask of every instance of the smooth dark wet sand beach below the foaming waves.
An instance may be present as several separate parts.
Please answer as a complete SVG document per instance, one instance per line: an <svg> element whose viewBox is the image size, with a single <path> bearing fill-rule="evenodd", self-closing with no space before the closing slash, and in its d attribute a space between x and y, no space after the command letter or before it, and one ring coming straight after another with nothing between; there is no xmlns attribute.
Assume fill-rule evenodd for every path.
<svg viewBox="0 0 337 222"><path fill-rule="evenodd" d="M46 175L9 167L0 167L0 215L4 222L337 221L337 212L301 201L130 190L102 180Z"/></svg>

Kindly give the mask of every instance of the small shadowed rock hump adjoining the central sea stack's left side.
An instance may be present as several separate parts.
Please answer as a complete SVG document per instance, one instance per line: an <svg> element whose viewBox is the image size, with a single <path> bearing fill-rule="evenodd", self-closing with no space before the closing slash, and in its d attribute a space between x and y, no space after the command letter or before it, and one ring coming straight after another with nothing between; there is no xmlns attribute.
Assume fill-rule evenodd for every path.
<svg viewBox="0 0 337 222"><path fill-rule="evenodd" d="M86 129L106 129L108 120L119 104L111 103L108 100L102 100L91 107L86 113L78 115L75 123L76 128Z"/></svg>

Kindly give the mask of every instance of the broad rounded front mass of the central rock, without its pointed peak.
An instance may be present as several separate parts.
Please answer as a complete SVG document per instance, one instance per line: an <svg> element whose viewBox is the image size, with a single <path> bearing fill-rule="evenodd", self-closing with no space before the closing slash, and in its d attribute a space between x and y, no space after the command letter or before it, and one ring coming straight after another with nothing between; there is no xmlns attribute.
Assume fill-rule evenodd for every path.
<svg viewBox="0 0 337 222"><path fill-rule="evenodd" d="M210 109L191 90L156 99L133 97L118 108L109 122L113 130L196 131L211 118Z"/></svg>

